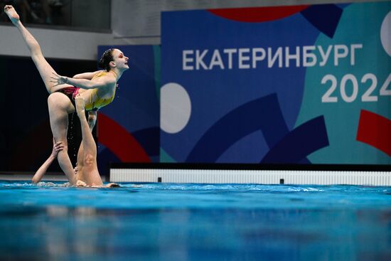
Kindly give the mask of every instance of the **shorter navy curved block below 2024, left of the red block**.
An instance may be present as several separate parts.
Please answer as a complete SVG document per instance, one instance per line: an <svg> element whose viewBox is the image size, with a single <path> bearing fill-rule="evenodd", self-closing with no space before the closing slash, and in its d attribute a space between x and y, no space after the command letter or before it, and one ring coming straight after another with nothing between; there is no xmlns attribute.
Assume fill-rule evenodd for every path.
<svg viewBox="0 0 391 261"><path fill-rule="evenodd" d="M261 163L303 163L302 159L318 149L328 146L324 117L304 122L279 141L264 156ZM308 160L307 160L308 161Z"/></svg>

